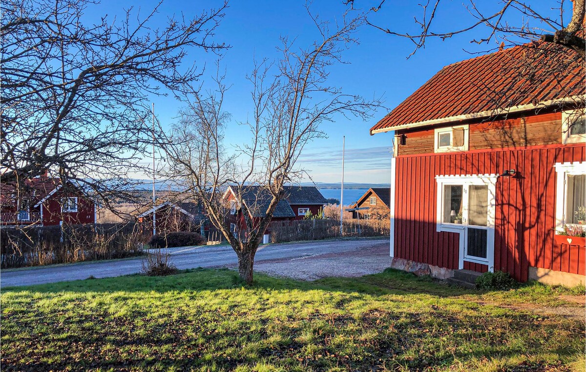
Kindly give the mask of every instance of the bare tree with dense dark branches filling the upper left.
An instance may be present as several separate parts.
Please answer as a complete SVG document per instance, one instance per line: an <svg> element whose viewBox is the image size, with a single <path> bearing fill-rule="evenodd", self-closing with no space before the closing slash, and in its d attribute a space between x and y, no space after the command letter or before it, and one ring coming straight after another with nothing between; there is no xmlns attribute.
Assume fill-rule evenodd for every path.
<svg viewBox="0 0 586 372"><path fill-rule="evenodd" d="M226 4L161 29L151 26L161 3L90 24L93 5L2 3L1 176L20 188L49 170L108 204L158 136L145 120L149 96L191 91L202 71L183 66L188 52L226 47L212 41Z"/></svg>

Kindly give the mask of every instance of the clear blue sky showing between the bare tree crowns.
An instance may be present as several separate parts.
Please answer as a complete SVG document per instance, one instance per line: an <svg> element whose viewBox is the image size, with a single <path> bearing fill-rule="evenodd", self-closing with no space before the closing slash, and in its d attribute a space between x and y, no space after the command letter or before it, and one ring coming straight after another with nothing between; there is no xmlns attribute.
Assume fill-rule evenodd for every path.
<svg viewBox="0 0 586 372"><path fill-rule="evenodd" d="M416 33L417 27L413 17L421 11L417 1L387 2L385 8L372 20L384 26L392 27L401 32ZM482 2L486 13L496 11L497 6ZM206 7L219 3L213 1L183 2L165 0L156 22L163 22L173 13L183 13L186 17L199 13ZM279 44L279 36L288 35L296 38L299 47L308 45L314 37L315 26L307 15L304 1L232 1L226 11L215 40L230 44L222 65L226 68L226 82L231 84L225 99L225 108L232 115L233 122L227 130L226 142L238 144L248 138L247 129L237 123L247 119L250 113L250 83L245 79L253 67L253 60L278 57L275 47ZM151 9L155 1L141 2L141 12ZM372 5L368 1L356 1L356 5ZM532 1L533 6L548 11L555 6L551 1ZM121 1L107 0L100 5L101 12L109 15L120 13L128 8ZM346 6L341 0L315 1L311 9L319 13L321 18L340 19ZM518 19L517 19L518 18ZM452 30L459 25L468 25L472 21L461 1L446 1L436 15L437 29ZM511 22L520 23L519 13L511 13ZM156 25L155 22L155 25ZM470 43L475 37L486 36L485 28L473 30L465 35L454 36L441 41L429 39L425 49L419 50L407 59L413 51L413 44L408 39L386 35L374 27L365 26L357 33L360 44L344 54L349 64L336 66L331 73L331 84L342 87L350 94L364 97L383 95L384 105L389 109L379 109L372 119L364 122L361 119L338 118L334 123L325 123L321 129L328 135L327 139L315 140L306 146L301 157L301 166L309 171L316 182L339 182L341 175L342 136L346 136L346 168L345 180L348 182L389 182L389 164L391 150L390 133L370 136L369 129L390 109L400 104L415 89L432 77L447 64L473 57L470 52L477 53L493 49L500 40L490 44ZM465 50L466 49L466 50ZM207 73L214 73L212 54L193 50L188 58L197 66L206 66ZM205 79L205 76L203 77ZM205 82L204 82L205 84ZM180 102L172 98L157 98L156 114L163 124L173 122ZM307 180L301 180L307 181Z"/></svg>

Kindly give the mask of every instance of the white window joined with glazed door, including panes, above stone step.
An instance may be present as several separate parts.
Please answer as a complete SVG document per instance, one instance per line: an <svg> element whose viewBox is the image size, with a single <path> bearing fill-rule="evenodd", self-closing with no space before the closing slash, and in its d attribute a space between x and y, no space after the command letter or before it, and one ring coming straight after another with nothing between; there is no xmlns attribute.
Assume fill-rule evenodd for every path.
<svg viewBox="0 0 586 372"><path fill-rule="evenodd" d="M498 175L438 175L437 231L459 234L459 268L464 261L494 270L495 192Z"/></svg>

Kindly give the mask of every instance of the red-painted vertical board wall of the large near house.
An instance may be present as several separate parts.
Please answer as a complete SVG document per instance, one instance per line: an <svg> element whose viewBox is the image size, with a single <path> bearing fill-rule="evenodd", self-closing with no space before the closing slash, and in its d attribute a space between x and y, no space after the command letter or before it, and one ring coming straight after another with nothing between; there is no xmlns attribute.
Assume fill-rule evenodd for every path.
<svg viewBox="0 0 586 372"><path fill-rule="evenodd" d="M529 266L585 275L583 247L554 243L555 163L585 161L583 144L474 153L398 157L395 256L458 268L458 234L436 231L436 175L491 174L515 168L496 183L495 270L526 281ZM488 267L466 263L465 268Z"/></svg>

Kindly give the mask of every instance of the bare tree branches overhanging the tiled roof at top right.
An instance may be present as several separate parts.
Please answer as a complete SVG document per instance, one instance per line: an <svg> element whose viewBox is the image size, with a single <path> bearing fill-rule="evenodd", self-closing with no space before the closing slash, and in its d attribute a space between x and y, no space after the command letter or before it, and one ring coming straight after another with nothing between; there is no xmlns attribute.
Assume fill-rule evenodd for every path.
<svg viewBox="0 0 586 372"><path fill-rule="evenodd" d="M385 4L385 2L386 0L377 1L370 8L370 12L377 13L385 8L390 8L390 5ZM469 0L468 4L464 5L472 16L472 20L468 25L456 29L438 29L435 25L442 1L427 0L424 4L420 4L421 15L415 17L415 25L418 30L414 33L393 30L390 27L377 25L369 20L367 20L367 23L389 35L410 39L415 46L411 55L425 47L427 39L439 38L445 40L452 36L469 32L472 29L485 27L486 35L481 39L471 40L472 43L488 44L490 41L500 41L502 43L518 44L530 40L542 40L543 42L558 44L574 50L584 60L586 59L586 41L584 39L586 7L584 2L585 0L572 0L571 2L564 0L552 1L551 10L557 10L557 12L543 13L537 10L536 6L532 6L530 2L519 0L500 0L498 3L501 5L498 6L496 12L486 10L491 8L495 2ZM345 3L350 6L357 5L355 0L346 0ZM568 22L564 22L564 12L567 11L568 6L573 6L572 16ZM506 15L518 17L518 22L511 23Z"/></svg>

